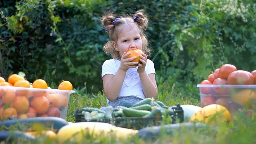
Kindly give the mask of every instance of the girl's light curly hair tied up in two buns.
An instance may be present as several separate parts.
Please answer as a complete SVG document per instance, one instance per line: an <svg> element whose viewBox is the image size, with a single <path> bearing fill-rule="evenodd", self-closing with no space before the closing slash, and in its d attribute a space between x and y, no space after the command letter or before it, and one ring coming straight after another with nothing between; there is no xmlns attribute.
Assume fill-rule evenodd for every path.
<svg viewBox="0 0 256 144"><path fill-rule="evenodd" d="M138 16L137 18L135 18ZM135 19L134 19L135 18ZM122 30L122 26L124 24L135 24L140 30L140 36L142 38L142 52L144 52L147 56L150 56L150 48L148 48L148 38L146 34L144 34L144 30L146 30L148 26L148 18L146 14L142 10L138 10L134 17L126 16L120 17L114 24L113 22L116 20L116 14L114 13L106 13L102 16L102 28L108 33L109 40L104 45L103 50L106 54L110 54L112 58L120 60L120 54L115 50L112 45L112 41L116 42L118 40L118 33Z"/></svg>

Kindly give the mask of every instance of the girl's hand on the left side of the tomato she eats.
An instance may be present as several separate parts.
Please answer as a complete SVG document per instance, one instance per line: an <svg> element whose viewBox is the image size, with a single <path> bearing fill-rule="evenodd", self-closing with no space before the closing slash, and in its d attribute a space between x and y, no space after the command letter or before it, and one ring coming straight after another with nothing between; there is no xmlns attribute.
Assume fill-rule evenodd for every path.
<svg viewBox="0 0 256 144"><path fill-rule="evenodd" d="M138 62L132 62L132 60L136 59L135 57L132 58L127 58L127 56L129 56L130 53L126 54L126 52L124 52L124 54L122 55L121 58L121 64L120 64L120 69L124 70L125 72L129 69L129 68L136 68L136 65L138 64Z"/></svg>

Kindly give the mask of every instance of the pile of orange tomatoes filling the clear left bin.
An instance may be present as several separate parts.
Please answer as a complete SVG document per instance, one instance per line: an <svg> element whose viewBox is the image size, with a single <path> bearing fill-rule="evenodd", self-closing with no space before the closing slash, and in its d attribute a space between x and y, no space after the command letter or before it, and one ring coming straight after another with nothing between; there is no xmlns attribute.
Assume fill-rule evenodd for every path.
<svg viewBox="0 0 256 144"><path fill-rule="evenodd" d="M60 117L68 105L67 93L61 90L72 89L69 81L62 81L54 90L42 79L30 83L18 74L10 75L8 80L0 77L0 118Z"/></svg>

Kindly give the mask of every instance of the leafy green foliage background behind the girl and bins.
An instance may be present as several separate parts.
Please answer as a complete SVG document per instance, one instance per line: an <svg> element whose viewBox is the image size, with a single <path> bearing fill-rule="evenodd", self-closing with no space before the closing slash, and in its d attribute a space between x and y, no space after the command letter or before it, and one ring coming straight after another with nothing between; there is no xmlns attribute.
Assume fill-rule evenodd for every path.
<svg viewBox="0 0 256 144"><path fill-rule="evenodd" d="M102 50L108 37L100 16L139 9L149 16L160 90L194 89L226 63L256 70L254 0L4 0L0 76L22 71L30 82L42 78L56 88L65 79L77 90L98 92L102 63L111 58Z"/></svg>

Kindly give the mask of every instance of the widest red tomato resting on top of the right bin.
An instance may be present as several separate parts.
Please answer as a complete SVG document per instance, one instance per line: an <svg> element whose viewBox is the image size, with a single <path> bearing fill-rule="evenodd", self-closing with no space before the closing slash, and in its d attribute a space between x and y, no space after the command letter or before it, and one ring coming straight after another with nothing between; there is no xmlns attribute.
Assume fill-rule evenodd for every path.
<svg viewBox="0 0 256 144"><path fill-rule="evenodd" d="M250 72L236 70L229 74L227 81L228 84L253 84L254 76Z"/></svg>

